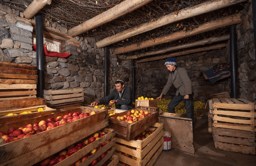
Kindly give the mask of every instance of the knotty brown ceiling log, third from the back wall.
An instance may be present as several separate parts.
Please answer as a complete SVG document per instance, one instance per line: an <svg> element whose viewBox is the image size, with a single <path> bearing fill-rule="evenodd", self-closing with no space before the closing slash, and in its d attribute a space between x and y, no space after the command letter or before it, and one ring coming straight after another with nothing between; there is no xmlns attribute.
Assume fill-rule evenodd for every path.
<svg viewBox="0 0 256 166"><path fill-rule="evenodd" d="M175 41L175 40L178 40L178 39L181 39L181 38L185 38L185 37L189 37L189 36L192 36L192 35L200 34L200 33L206 32L206 31L211 31L211 30L214 30L214 29L217 29L217 28L237 24L237 23L241 22L240 15L241 14L239 13L239 14L228 16L228 17L225 17L225 18L212 20L212 21L209 21L209 22L204 23L202 25L199 25L198 27L194 28L193 30L189 30L189 31L184 30L184 31L180 31L180 32L175 32L173 34L169 34L169 35L166 35L166 36L163 36L163 37L155 38L153 40L147 40L147 41L142 41L140 43L127 45L127 46L124 46L124 47L118 47L118 48L114 49L114 53L119 54L119 53L134 51L134 50L137 50L137 49L146 48L146 47L154 46L154 45L157 45L157 44L166 43L166 42L169 42L169 41Z"/></svg>

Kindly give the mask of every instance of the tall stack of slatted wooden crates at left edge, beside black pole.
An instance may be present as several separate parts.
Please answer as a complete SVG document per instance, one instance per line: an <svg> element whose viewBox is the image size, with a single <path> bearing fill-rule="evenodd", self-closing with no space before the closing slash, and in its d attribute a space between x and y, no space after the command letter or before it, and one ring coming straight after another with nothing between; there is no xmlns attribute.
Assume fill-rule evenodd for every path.
<svg viewBox="0 0 256 166"><path fill-rule="evenodd" d="M36 98L37 66L0 62L0 100Z"/></svg>

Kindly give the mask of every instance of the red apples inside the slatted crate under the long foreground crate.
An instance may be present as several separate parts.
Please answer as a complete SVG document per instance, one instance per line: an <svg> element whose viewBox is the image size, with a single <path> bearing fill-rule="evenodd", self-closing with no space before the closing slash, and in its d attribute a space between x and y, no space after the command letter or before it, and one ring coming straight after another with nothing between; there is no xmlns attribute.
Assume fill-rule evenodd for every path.
<svg viewBox="0 0 256 166"><path fill-rule="evenodd" d="M79 150L81 150L82 148L86 147L87 145L89 145L90 143L94 142L95 140L99 139L100 137L102 137L103 135L105 135L105 132L101 132L98 131L94 134L92 134L91 136L67 147L66 149L40 161L37 165L40 166L53 166L59 162L61 162L62 160L66 159L67 157L71 156L72 154L78 152ZM85 156L83 156L81 159L77 160L75 163L73 163L71 166L77 166L79 165L81 162L85 161L88 157L90 157L92 154L94 154L96 151L98 151L99 149L101 149L103 146L105 146L107 143L109 143L110 140L107 140L106 142L102 143L100 146L98 146L97 148L93 149L91 152L89 152L88 154L86 154ZM102 155L100 155L97 159L95 159L92 163L91 166L97 164L97 162L99 162L101 159L103 159L106 154L108 154L110 152L110 150L107 150L105 153L103 153ZM103 164L103 166L106 166L107 162Z"/></svg>

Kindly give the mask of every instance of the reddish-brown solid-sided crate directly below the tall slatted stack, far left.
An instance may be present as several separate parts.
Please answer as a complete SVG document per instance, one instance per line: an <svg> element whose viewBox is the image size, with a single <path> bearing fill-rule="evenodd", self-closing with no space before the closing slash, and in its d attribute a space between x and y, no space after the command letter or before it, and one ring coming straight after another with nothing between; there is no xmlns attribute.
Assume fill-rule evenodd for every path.
<svg viewBox="0 0 256 166"><path fill-rule="evenodd" d="M24 98L24 99L11 99L11 100L1 100L0 99L0 113L23 109L34 106L47 105L47 100L43 98ZM4 113L5 114L5 113Z"/></svg>

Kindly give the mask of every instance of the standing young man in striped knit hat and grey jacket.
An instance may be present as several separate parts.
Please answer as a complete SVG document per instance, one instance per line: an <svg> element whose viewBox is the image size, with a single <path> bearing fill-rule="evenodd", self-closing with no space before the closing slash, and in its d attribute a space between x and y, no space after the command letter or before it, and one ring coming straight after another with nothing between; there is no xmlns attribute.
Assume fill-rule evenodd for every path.
<svg viewBox="0 0 256 166"><path fill-rule="evenodd" d="M163 95L166 95L172 84L177 88L176 95L168 104L168 112L175 113L175 107L184 101L186 108L186 118L192 119L192 125L194 126L194 104L193 104L193 87L192 82L188 76L186 69L178 67L174 58L170 57L164 63L167 69L170 71L168 81L156 100L161 100Z"/></svg>

